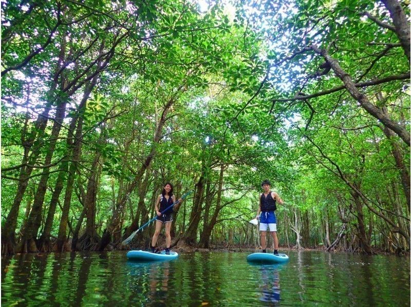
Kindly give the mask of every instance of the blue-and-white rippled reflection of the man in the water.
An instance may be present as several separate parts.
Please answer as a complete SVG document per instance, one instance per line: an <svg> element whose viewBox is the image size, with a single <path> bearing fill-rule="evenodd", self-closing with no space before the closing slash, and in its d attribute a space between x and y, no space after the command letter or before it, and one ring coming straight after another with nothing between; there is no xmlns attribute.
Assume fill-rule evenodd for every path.
<svg viewBox="0 0 411 307"><path fill-rule="evenodd" d="M260 301L279 305L281 290L279 289L278 271L278 264L261 266Z"/></svg>

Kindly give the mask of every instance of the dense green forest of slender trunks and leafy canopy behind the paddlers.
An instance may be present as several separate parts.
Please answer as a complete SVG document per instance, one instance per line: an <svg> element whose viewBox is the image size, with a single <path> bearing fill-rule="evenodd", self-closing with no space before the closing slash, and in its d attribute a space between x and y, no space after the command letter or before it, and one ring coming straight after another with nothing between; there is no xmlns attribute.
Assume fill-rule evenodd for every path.
<svg viewBox="0 0 411 307"><path fill-rule="evenodd" d="M410 247L409 2L2 2L2 254ZM153 227L128 247L146 248Z"/></svg>

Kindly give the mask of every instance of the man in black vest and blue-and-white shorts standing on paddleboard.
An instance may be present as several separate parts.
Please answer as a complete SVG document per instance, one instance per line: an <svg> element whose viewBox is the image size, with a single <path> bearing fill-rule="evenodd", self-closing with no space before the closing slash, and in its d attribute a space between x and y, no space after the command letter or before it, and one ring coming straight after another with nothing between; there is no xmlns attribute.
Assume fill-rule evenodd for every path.
<svg viewBox="0 0 411 307"><path fill-rule="evenodd" d="M266 253L267 228L270 229L274 241L274 255L278 255L277 222L274 211L277 209L276 202L284 204L278 194L271 191L271 183L264 180L261 183L264 193L260 195L260 204L257 210L257 219L260 220L261 248Z"/></svg>

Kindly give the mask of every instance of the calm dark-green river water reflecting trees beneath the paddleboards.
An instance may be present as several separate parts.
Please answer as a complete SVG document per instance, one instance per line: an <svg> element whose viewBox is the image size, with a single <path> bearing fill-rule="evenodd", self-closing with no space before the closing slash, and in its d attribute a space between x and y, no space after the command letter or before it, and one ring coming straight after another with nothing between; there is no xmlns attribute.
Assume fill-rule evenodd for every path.
<svg viewBox="0 0 411 307"><path fill-rule="evenodd" d="M2 306L409 306L409 257L288 252L285 265L249 253L181 253L162 263L126 252L2 258Z"/></svg>

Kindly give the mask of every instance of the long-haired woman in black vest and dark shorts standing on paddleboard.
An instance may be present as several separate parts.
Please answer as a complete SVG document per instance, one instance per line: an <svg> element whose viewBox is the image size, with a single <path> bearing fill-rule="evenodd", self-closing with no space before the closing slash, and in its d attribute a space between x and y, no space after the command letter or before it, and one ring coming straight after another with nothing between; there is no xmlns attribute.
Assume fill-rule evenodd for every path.
<svg viewBox="0 0 411 307"><path fill-rule="evenodd" d="M151 242L151 251L154 253L156 248L156 243L158 236L160 235L161 226L164 224L165 227L165 254L170 255L170 244L171 244L171 222L173 221L173 207L178 208L181 205L182 199L180 198L178 202L171 208L163 212L167 207L170 207L174 202L176 202L176 197L173 194L173 186L170 182L167 182L161 195L157 197L156 201L156 231L154 232L153 240ZM160 205L160 206L159 206ZM163 214L161 214L163 212Z"/></svg>

